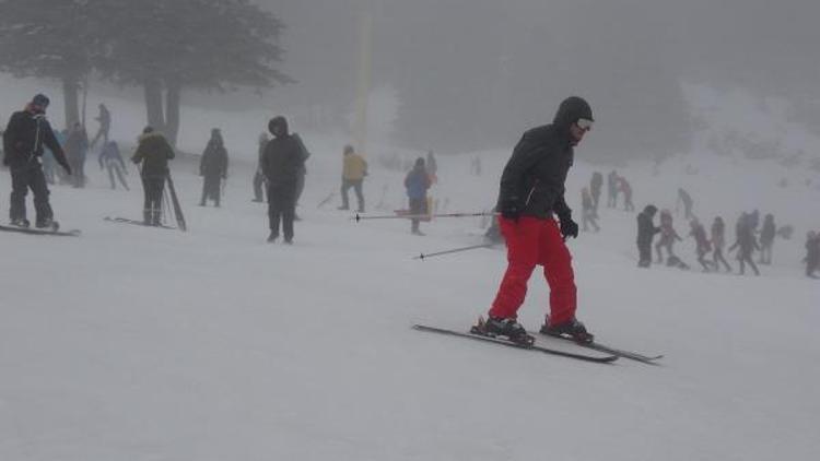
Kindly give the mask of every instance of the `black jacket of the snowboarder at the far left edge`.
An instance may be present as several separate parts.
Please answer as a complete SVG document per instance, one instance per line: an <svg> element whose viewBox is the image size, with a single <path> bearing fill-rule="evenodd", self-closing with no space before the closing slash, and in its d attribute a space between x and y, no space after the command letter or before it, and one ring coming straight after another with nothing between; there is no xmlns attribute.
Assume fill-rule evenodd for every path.
<svg viewBox="0 0 820 461"><path fill-rule="evenodd" d="M35 157L43 156L43 145L54 153L57 163L68 167L66 153L54 135L45 114L20 110L12 114L3 133L3 165L12 169L25 166Z"/></svg>

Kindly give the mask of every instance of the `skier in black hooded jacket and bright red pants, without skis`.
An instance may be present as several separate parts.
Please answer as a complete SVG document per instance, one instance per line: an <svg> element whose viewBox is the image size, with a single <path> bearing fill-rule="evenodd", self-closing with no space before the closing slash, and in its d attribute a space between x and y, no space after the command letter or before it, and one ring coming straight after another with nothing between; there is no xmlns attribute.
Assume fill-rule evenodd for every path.
<svg viewBox="0 0 820 461"><path fill-rule="evenodd" d="M501 177L497 203L508 265L489 319L480 320L475 332L531 344L535 339L518 323L517 311L529 276L536 265L542 265L550 286L550 314L541 333L566 335L582 343L593 341L575 319L575 276L564 244L564 239L578 235L578 225L564 200L564 181L573 164L573 147L591 126L589 104L573 96L561 103L552 125L525 132L515 146Z"/></svg>

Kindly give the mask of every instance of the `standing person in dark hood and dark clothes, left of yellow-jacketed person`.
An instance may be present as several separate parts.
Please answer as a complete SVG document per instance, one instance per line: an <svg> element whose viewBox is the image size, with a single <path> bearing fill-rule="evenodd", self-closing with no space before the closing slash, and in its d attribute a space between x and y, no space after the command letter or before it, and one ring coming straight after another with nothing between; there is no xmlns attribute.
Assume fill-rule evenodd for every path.
<svg viewBox="0 0 820 461"><path fill-rule="evenodd" d="M298 138L288 132L288 120L273 117L268 123L273 139L268 141L261 158L262 174L268 184L268 241L279 238L279 223L285 244L293 243L293 221L296 213L296 189L305 166L305 153Z"/></svg>

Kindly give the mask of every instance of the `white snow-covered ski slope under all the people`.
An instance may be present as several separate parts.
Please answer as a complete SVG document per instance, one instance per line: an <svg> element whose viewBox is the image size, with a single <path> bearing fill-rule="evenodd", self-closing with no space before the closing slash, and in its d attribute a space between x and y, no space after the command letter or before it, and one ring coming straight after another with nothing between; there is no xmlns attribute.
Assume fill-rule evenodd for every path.
<svg viewBox="0 0 820 461"><path fill-rule="evenodd" d="M648 166L619 169L639 210L673 208L684 186L706 222L719 212L731 228L754 206L797 233L777 240L760 277L647 271L635 268L635 215L604 210L604 232L570 243L578 317L602 342L666 354L660 367L606 366L411 330L468 328L492 300L503 251L412 260L479 243L479 220L438 220L415 237L402 221L352 222L335 210L338 194L317 209L338 186L341 145L312 149L293 246L265 243L265 205L249 201L253 172L242 162L222 209L196 206L196 165L174 165L189 233L104 222L139 217L141 189L132 174L131 192L109 191L90 163L86 189L51 196L56 217L82 237L0 234L0 460L820 454L820 285L799 264L803 236L820 223L804 172L778 172L794 177L780 188L763 164L703 159L710 172L689 176L688 161L664 164L658 177ZM434 193L447 211L492 205L507 153L480 155L482 177L467 175L469 156L440 158ZM578 158L575 208L595 169L583 147ZM739 173L743 181L717 182ZM401 177L372 168L373 212L402 206ZM9 190L4 173L3 213ZM373 210L379 201L385 210ZM680 218L677 227L687 230ZM691 241L678 252L693 261ZM527 328L538 328L547 299L536 273L520 310Z"/></svg>

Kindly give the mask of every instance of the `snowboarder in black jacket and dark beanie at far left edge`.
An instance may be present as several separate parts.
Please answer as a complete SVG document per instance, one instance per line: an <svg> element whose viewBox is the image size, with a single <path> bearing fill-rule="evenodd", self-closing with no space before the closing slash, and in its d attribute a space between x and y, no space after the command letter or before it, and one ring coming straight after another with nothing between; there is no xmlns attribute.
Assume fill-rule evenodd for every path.
<svg viewBox="0 0 820 461"><path fill-rule="evenodd" d="M40 157L44 145L54 153L57 162L68 175L71 166L66 159L62 146L57 142L51 126L46 119L48 97L43 94L34 96L24 110L14 113L3 132L3 165L11 172L11 223L28 227L25 213L25 196L28 189L34 193L37 227L54 225L54 211L48 202L48 186L43 174Z"/></svg>

